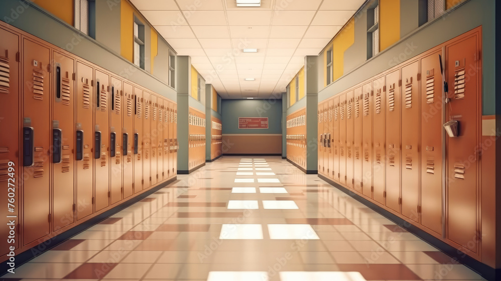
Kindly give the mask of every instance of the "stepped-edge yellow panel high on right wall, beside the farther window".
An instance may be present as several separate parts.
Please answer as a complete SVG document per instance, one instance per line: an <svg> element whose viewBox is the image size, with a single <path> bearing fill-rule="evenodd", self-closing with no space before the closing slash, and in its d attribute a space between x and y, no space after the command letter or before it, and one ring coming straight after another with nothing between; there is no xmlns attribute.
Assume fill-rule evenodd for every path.
<svg viewBox="0 0 501 281"><path fill-rule="evenodd" d="M332 65L333 78L336 81L344 74L344 53L355 43L355 20L351 19L333 40ZM327 64L326 64L327 65ZM324 70L325 71L325 70Z"/></svg>

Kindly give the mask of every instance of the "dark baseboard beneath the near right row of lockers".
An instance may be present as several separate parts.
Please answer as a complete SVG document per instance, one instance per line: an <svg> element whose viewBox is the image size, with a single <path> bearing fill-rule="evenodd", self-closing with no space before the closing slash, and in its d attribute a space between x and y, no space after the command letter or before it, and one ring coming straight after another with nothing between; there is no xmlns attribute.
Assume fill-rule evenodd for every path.
<svg viewBox="0 0 501 281"><path fill-rule="evenodd" d="M420 229L417 226L414 226L413 224L408 223L404 219L390 213L389 211L381 208L380 206L372 203L371 201L365 199L364 197L358 195L357 193L339 185L338 183L334 182L332 179L327 178L324 175L318 174L318 177L321 178L322 180L328 182L331 184L333 187L341 190L342 192L348 194L349 196L353 197L360 203L364 204L365 206L371 208L372 210L378 212L379 214L385 216L389 220L393 221L400 227L406 229L407 231L413 233L414 235L418 236L419 238L423 239L424 241L428 242L429 244L433 245L434 247L438 248L439 250L443 251L444 253L448 254L452 258L455 258L458 262L466 265L473 271L477 272L478 274L482 275L483 278L487 280L499 280L501 278L501 268L500 269L495 269L490 266L488 266L485 263L482 263L467 254L463 253L462 251L452 247L451 245L443 242L442 240L436 238L435 236L427 233L426 231Z"/></svg>

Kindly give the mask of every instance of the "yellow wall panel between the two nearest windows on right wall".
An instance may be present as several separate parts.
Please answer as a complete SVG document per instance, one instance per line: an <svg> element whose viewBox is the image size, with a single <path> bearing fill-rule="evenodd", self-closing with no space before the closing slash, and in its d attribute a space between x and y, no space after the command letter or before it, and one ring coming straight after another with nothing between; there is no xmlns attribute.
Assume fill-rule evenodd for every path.
<svg viewBox="0 0 501 281"><path fill-rule="evenodd" d="M400 0L379 1L379 50L400 40Z"/></svg>

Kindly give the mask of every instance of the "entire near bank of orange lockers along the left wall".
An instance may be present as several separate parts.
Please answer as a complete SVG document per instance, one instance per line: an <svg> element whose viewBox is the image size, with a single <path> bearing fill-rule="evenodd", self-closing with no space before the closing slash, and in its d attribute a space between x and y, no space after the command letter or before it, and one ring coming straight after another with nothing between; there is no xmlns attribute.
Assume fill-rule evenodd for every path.
<svg viewBox="0 0 501 281"><path fill-rule="evenodd" d="M9 135L0 139L0 199L15 206L1 214L5 224L16 216L17 253L176 175L168 146L171 137L177 145L175 102L143 96L126 79L5 24L0 37L0 111L9 113L0 119ZM146 102L156 123L145 118ZM153 165L143 165L143 133L154 137ZM2 259L11 245L0 246Z"/></svg>

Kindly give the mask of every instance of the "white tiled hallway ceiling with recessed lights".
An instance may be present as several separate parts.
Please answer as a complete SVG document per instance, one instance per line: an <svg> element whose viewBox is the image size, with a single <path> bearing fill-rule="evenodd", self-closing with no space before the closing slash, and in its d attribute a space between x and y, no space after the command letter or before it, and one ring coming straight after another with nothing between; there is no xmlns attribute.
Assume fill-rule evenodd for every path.
<svg viewBox="0 0 501 281"><path fill-rule="evenodd" d="M131 0L222 98L268 98L318 55L365 0ZM243 53L243 48L258 53ZM255 78L255 81L245 81Z"/></svg>

